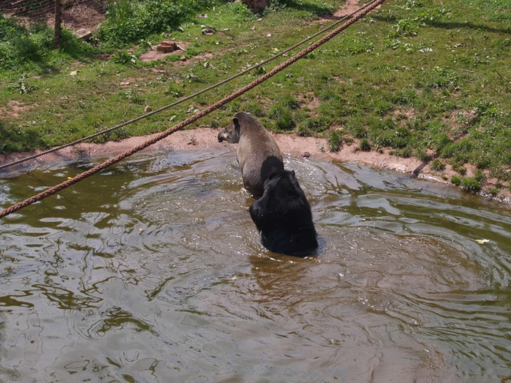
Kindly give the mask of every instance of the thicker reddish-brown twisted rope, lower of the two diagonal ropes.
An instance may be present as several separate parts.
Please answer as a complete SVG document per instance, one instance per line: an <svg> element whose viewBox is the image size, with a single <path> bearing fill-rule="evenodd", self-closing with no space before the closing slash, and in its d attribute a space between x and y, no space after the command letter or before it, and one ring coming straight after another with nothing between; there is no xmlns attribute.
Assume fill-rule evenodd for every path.
<svg viewBox="0 0 511 383"><path fill-rule="evenodd" d="M120 153L118 156L115 156L115 157L111 158L110 160L106 160L105 162L102 162L100 165L96 165L92 169L84 171L82 174L78 174L77 176L71 178L70 180L66 180L63 183L60 183L59 185L55 185L54 187L51 187L50 189L47 189L44 192L41 192L35 196L32 196L24 201L21 201L20 203L17 203L16 205L12 205L11 207L8 207L7 209L3 209L0 212L0 218L3 218L5 216L7 216L8 214L17 212L19 209L23 209L24 207L27 207L28 205L32 205L32 203L36 203L39 200L42 200L46 197L56 194L56 193L60 192L61 190L66 189L66 187L70 187L71 185L73 185L75 183L79 183L81 180L84 180L85 178L90 177L93 174L96 174L98 171L102 171L103 169L106 169L107 167L109 167L121 160L124 160L124 158L132 156L134 153L151 146L152 144L162 140L163 138L170 136L172 133L174 133L180 129L183 129L184 127L186 127L189 124L192 124L192 122L195 122L196 120L199 120L200 118L203 118L205 115L208 115L208 114L212 113L213 111L216 111L216 109L221 108L221 106L224 106L225 104L227 104L227 102L231 102L236 97L239 97L240 95L243 95L243 93L250 91L250 89L258 86L262 82L268 80L270 77L275 76L277 73L283 71L285 68L287 68L291 64L294 64L302 57L313 52L313 50L315 50L319 46L322 46L327 41L329 41L330 39L335 37L336 35L339 35L340 32L342 32L343 30L345 30L346 28L348 28L349 26L354 24L356 21L362 19L362 17L367 15L374 8L380 6L382 3L384 3L384 1L385 0L374 1L371 4L371 6L362 10L358 15L353 17L353 19L346 21L345 24L342 24L342 26L340 26L339 28L336 28L335 30L333 30L333 32L329 33L322 39L319 39L314 44L311 44L308 48L302 50L300 53L297 53L297 55L291 57L286 62L283 62L279 66L276 66L275 68L272 69L272 71L266 73L265 75L262 75L257 80L254 80L250 84L243 86L243 88L228 95L227 97L223 98L219 102L212 104L211 106L207 107L203 111L197 112L196 115L192 115L192 117L187 118L186 120L184 120L183 122L180 122L179 124L175 125L174 127L171 127L169 129L167 129L166 131L163 131L162 133L158 133L153 138L149 138L149 140L142 142L142 144L139 144L136 147L133 147L128 151L124 151L123 153Z"/></svg>

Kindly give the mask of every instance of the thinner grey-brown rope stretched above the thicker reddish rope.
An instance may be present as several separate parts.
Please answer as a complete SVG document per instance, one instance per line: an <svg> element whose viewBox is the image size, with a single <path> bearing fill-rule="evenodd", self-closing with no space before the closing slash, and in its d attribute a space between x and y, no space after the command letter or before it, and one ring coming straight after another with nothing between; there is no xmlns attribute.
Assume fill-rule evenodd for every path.
<svg viewBox="0 0 511 383"><path fill-rule="evenodd" d="M293 46L290 46L289 48L283 50L280 53L277 53L277 55L274 55L274 56L270 57L269 59L266 59L266 60L260 62L259 64L251 66L250 68L245 69L245 71L241 71L240 73L236 73L236 75L228 77L225 80L222 80L221 82L217 82L216 84L214 84L212 86L208 86L207 88L204 88L202 91L198 91L198 92L196 92L196 93L194 93L192 95L183 97L180 100L177 100L176 102L172 102L171 104L163 106L160 109L156 109L156 110L151 111L149 113L140 115L139 117L133 118L132 120L129 120L129 121L126 121L126 122L122 122L122 124L115 125L115 127L111 127L109 129L104 129L102 131L98 131L97 133L91 134L90 136L86 136L84 138L80 138L80 139L75 140L73 142L68 142L67 144L60 145L59 147L53 147L51 149L48 149L48 150L45 150L45 151L41 151L40 153L32 154L32 156L28 156L28 157L25 157L25 158L20 158L19 160L15 160L15 161L12 161L12 162L8 162L6 164L2 164L2 165L0 165L0 169L4 169L4 168L10 167L12 165L21 164L21 162L26 162L28 160L33 160L34 158L38 158L38 157L44 156L44 155L46 155L48 153L53 153L54 151L59 151L60 149L64 149L66 147L72 147L72 146L74 146L76 144L80 144L81 142L92 140L93 138L96 138L97 136L101 136L102 134L110 133L111 131L115 131L115 130L120 129L122 127L125 127L125 126L127 126L129 124L133 124L133 122L137 122L137 121L143 120L144 118L148 118L151 115L154 115L156 113L160 113L162 111L165 111L165 110L171 108L172 106L176 106L178 104L181 104L182 102L190 100L191 98L194 98L194 97L196 97L198 95L201 95L201 94L203 94L203 93L205 93L207 91L211 91L212 89L217 88L217 87L219 87L219 86L221 86L221 85L223 85L223 84L225 84L227 82L230 82L230 81L234 80L237 77L245 75L246 73L248 73L250 71L253 71L256 68L259 68L260 66L263 66L264 64L268 64L268 62L271 62L271 61L277 59L278 57L281 57L282 55L285 55L290 50L293 50L293 49L297 48L298 46L301 46L302 44L305 44L307 41L310 41L310 40L314 39L315 37L317 37L319 35L322 35L327 30L332 29L334 26L337 26L337 24L340 24L340 23L342 23L342 21L352 17L353 15L355 15L355 13L360 12L361 10L364 10L365 8L369 7L374 1L375 0L365 4L364 6L362 6L361 8L356 10L355 12L351 12L349 15L346 15L346 16L342 17L341 19L335 21L334 23L332 23L331 25L327 26L326 28L323 28L322 30L319 30L319 32L316 32L314 35L312 35L310 37L307 37L304 40L301 40L299 43L297 43L297 44L295 44Z"/></svg>

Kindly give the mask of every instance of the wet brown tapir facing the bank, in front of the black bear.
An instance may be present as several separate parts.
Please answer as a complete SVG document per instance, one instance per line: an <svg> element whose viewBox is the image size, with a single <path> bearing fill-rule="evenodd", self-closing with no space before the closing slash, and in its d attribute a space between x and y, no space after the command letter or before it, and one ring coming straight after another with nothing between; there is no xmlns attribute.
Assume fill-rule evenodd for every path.
<svg viewBox="0 0 511 383"><path fill-rule="evenodd" d="M232 122L220 131L218 139L219 142L238 143L237 158L243 185L254 198L263 195L263 185L268 175L284 170L277 142L248 113L236 113Z"/></svg>

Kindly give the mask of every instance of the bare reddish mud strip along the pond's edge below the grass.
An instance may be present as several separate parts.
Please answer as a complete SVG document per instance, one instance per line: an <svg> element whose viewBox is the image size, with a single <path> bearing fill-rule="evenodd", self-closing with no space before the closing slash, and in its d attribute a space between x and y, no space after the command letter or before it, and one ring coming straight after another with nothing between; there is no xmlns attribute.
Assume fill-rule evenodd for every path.
<svg viewBox="0 0 511 383"><path fill-rule="evenodd" d="M197 128L193 130L177 131L164 140L144 149L142 153L150 153L151 151L183 151L221 147L235 151L235 144L227 144L225 142L219 143L217 141L216 136L218 133L219 129L212 128ZM290 156L310 156L311 158L318 158L326 161L360 161L364 162L366 165L378 167L380 169L389 169L400 173L407 173L410 174L410 176L427 178L428 180L440 183L447 183L446 180L441 178L442 174L445 174L448 178L450 178L453 174L456 174L449 165L446 166L444 171L439 173L433 171L428 163L422 162L417 158L393 156L389 154L389 149L383 149L380 152L360 151L357 149L358 142L356 140L352 144L342 144L339 151L331 153L328 152L328 142L326 142L326 139L324 138L299 137L295 133L290 135L272 133L272 136L275 138L275 141L279 145L282 153ZM2 169L0 170L0 176L6 176L6 174L10 171L30 169L30 167L46 164L48 162L111 157L118 153L122 153L122 151L131 149L131 147L144 142L150 137L151 136L131 137L125 140L110 141L103 144L78 144L75 147L64 148L53 153L48 153L45 156L36 158L35 160L30 160L19 165ZM40 152L41 151L25 151L0 154L0 164L19 160ZM470 167L470 165L465 166L467 167L467 175L470 176L475 169ZM511 203L511 193L508 192L508 190L501 190L503 198L496 198L485 192L485 190L490 189L490 187L494 187L495 182L496 180L488 180L487 185L483 187L483 192L480 194L505 203ZM452 186L455 187L454 185Z"/></svg>

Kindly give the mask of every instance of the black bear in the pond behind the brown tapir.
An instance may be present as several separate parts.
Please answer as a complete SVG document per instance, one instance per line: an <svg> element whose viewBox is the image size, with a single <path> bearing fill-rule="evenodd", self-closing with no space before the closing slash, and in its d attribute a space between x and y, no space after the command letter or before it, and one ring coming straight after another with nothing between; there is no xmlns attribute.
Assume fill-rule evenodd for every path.
<svg viewBox="0 0 511 383"><path fill-rule="evenodd" d="M263 196L250 206L250 216L268 250L294 256L317 250L313 214L295 171L270 174Z"/></svg>

